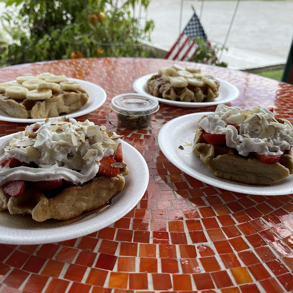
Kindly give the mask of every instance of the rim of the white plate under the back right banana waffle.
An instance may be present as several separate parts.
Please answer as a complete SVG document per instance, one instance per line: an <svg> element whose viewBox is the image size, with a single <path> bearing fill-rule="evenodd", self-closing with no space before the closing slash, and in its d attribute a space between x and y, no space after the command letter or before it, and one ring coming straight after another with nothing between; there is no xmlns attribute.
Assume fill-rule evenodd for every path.
<svg viewBox="0 0 293 293"><path fill-rule="evenodd" d="M151 76L153 76L155 74L157 74L157 73L146 74L144 76L139 77L138 79L136 79L132 83L132 88L137 93L143 94L143 95L147 95L147 96L150 96L150 97L154 97L159 102L161 102L163 104L172 105L172 106L178 106L178 107L202 108L202 107L209 107L209 106L213 106L213 105L219 105L219 104L229 103L231 101L234 101L234 100L238 99L239 96L240 96L240 91L239 91L239 89L234 84L230 84L229 82L227 82L225 80L216 78L216 80L218 80L220 83L229 85L233 89L233 91L235 91L235 96L234 97L231 97L229 99L223 100L223 101L205 102L205 103L179 102L179 101L171 101L171 100L166 100L166 99L163 99L163 98L158 98L158 97L152 96L151 94L147 93L144 90L144 87L146 86L145 83L144 83L143 87L140 86L140 84L143 83L144 79L146 79L146 78L149 79Z"/></svg>

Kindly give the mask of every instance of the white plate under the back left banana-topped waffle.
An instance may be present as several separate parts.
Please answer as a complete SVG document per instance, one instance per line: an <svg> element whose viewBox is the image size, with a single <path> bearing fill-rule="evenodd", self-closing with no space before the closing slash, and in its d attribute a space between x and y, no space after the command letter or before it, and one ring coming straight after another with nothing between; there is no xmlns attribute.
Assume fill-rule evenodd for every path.
<svg viewBox="0 0 293 293"><path fill-rule="evenodd" d="M82 88L84 88L86 90L86 92L88 93L88 101L87 103L82 106L81 108L77 109L74 112L65 114L66 117L68 118L75 118L75 117L79 117L82 116L84 114L87 114L91 111L94 111L96 109L98 109L99 107L101 107L107 98L107 94L105 92L105 90L98 84L93 84L87 81L83 81L80 79L76 79L76 78L67 78L68 81L70 82L78 82L81 84ZM15 81L11 81L15 82ZM54 119L55 117L50 117L50 119ZM41 119L31 119L31 118L15 118L15 117L11 117L10 115L8 115L7 113L5 113L4 111L0 110L0 120L2 121L10 121L10 122L20 122L20 123L35 123L35 122L40 122L40 121L45 121L46 118L41 118Z"/></svg>

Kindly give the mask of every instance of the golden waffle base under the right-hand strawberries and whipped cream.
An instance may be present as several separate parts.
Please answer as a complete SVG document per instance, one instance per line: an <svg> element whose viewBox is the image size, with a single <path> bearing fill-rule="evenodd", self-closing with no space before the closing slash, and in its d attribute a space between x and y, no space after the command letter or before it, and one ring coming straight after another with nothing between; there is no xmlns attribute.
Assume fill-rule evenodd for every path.
<svg viewBox="0 0 293 293"><path fill-rule="evenodd" d="M243 157L231 147L208 144L199 122L192 150L215 176L246 184L271 185L293 174L292 148L285 151L277 163L263 163L251 153Z"/></svg>

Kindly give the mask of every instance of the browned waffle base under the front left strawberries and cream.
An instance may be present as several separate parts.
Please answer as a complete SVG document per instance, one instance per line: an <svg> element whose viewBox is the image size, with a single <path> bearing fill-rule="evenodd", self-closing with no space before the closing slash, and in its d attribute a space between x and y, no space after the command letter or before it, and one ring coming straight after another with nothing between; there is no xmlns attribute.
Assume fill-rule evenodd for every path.
<svg viewBox="0 0 293 293"><path fill-rule="evenodd" d="M124 188L127 174L128 168L124 167L115 177L95 177L83 186L64 188L54 197L47 197L41 190L26 189L20 197L14 198L0 188L0 210L31 214L38 222L51 218L68 220L105 205Z"/></svg>

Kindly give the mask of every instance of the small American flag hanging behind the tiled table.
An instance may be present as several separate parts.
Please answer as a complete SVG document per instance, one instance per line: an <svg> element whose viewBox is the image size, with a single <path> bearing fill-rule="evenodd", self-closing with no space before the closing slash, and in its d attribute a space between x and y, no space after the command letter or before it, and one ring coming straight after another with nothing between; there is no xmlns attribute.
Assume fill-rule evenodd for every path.
<svg viewBox="0 0 293 293"><path fill-rule="evenodd" d="M170 60L189 60L196 50L196 43L191 38L200 38L207 41L207 35L197 17L194 13L187 26L174 43L170 51L165 56L165 59Z"/></svg>

